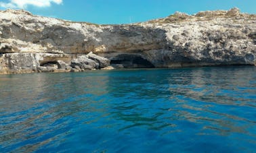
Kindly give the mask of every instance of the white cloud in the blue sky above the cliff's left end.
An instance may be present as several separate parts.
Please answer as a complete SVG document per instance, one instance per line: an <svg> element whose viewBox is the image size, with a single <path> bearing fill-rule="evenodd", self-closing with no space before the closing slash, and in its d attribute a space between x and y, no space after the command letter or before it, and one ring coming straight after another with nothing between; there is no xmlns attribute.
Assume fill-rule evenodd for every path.
<svg viewBox="0 0 256 153"><path fill-rule="evenodd" d="M9 3L0 2L0 7L11 9L24 9L28 5L36 7L49 7L51 3L61 4L62 0L9 0Z"/></svg>

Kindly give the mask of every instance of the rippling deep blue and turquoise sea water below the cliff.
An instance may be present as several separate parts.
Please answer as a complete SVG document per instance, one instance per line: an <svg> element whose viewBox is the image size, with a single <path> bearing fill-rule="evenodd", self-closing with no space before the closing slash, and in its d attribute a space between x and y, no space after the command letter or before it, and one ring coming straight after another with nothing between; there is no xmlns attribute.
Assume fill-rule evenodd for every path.
<svg viewBox="0 0 256 153"><path fill-rule="evenodd" d="M256 152L256 67L0 75L0 152Z"/></svg>

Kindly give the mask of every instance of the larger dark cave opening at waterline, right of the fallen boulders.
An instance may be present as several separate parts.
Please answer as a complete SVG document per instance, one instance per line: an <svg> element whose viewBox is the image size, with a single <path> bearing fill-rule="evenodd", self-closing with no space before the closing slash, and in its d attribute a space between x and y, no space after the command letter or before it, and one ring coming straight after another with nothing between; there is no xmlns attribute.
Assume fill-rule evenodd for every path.
<svg viewBox="0 0 256 153"><path fill-rule="evenodd" d="M125 68L154 68L154 65L140 55L117 55L110 61L111 65L121 64Z"/></svg>

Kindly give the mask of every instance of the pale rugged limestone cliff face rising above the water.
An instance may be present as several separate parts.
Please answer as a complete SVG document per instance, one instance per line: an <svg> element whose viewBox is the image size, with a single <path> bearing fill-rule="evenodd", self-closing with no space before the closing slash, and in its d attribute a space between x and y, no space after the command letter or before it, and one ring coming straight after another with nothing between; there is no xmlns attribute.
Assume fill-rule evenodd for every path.
<svg viewBox="0 0 256 153"><path fill-rule="evenodd" d="M90 59L90 52L97 60ZM234 8L97 25L33 16L24 10L0 11L0 73L81 71L90 60L96 65L105 60L104 65L112 67L255 65L256 15ZM60 66L63 62L65 68Z"/></svg>

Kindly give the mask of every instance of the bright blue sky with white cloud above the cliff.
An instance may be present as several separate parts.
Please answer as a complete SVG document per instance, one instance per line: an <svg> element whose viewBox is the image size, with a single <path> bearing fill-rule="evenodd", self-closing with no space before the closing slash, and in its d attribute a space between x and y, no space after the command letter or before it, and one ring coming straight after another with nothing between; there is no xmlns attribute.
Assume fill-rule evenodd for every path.
<svg viewBox="0 0 256 153"><path fill-rule="evenodd" d="M165 18L175 11L238 7L256 13L256 0L0 0L0 9L25 9L39 16L95 24L129 24Z"/></svg>

